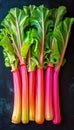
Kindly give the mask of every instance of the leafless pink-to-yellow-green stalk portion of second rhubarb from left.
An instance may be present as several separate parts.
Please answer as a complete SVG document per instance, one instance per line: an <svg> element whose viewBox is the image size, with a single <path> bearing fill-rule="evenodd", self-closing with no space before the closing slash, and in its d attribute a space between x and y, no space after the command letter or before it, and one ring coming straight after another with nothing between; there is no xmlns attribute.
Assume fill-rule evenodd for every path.
<svg viewBox="0 0 74 130"><path fill-rule="evenodd" d="M25 64L20 64L20 73L22 77L22 123L29 122L29 114L28 114L28 73Z"/></svg>

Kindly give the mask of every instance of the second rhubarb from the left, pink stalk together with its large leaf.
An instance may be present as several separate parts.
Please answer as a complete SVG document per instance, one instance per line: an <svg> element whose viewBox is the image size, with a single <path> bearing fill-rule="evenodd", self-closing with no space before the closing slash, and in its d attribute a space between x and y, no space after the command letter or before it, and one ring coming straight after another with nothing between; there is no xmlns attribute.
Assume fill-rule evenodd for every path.
<svg viewBox="0 0 74 130"><path fill-rule="evenodd" d="M26 14L24 10L22 9L12 8L10 9L5 19L2 21L2 25L8 33L9 39L13 46L13 52L15 53L15 56L18 57L18 62L20 64L20 65L18 64L18 66L19 66L19 69L21 70L20 74L21 74L21 82L22 82L22 97L20 98L22 100L22 103L21 103L22 106L20 107L22 107L22 113L21 113L21 110L20 109L19 110L21 113L22 123L28 123L28 74L27 74L26 63L24 63L25 59L21 55L21 50L23 50L22 48L25 43L24 29L26 28L26 26L28 26L28 14ZM27 45L26 45L26 48L27 48ZM26 50L26 48L24 49ZM6 50L6 52L8 53L9 50ZM13 59L14 57L12 57L12 60ZM18 95L16 95L16 97L18 98Z"/></svg>

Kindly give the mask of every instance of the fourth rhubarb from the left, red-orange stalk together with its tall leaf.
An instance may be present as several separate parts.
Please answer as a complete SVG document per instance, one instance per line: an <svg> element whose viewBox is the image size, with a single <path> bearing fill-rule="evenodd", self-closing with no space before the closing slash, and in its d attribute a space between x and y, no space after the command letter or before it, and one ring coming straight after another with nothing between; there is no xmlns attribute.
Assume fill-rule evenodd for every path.
<svg viewBox="0 0 74 130"><path fill-rule="evenodd" d="M31 16L31 26L35 28L36 32L34 38L36 39L35 49L33 51L32 59L37 64L36 69L36 103L35 103L35 121L38 124L44 122L45 105L44 105L44 51L47 45L47 38L50 26L50 11L43 5L37 7Z"/></svg>

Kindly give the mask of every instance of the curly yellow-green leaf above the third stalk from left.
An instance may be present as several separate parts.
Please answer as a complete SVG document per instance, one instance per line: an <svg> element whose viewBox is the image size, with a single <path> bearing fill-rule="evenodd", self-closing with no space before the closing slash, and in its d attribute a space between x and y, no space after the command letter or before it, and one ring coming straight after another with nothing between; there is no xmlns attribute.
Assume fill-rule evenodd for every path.
<svg viewBox="0 0 74 130"><path fill-rule="evenodd" d="M27 28L28 31L26 30L27 31L26 40L23 44L23 47L25 47L26 44L28 44L27 49L25 51L24 48L22 48L23 53L21 53L21 54L23 54L22 56L27 57L27 53L25 53L25 52L28 52L28 61L27 61L28 71L35 70L35 67L37 65L36 60L33 60L34 59L33 54L36 55L36 53L37 53L39 36L37 35L37 30L31 25L31 16L36 8L37 7L35 5L29 5L29 6L23 7L23 10L25 11L25 13L29 15L29 27ZM39 51L38 51L38 53L39 53Z"/></svg>

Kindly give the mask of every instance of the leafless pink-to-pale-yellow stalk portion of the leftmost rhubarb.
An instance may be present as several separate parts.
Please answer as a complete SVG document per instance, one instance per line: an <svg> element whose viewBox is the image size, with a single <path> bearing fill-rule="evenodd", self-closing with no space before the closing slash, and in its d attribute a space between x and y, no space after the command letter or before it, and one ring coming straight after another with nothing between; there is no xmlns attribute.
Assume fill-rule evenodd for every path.
<svg viewBox="0 0 74 130"><path fill-rule="evenodd" d="M19 70L12 71L14 84L14 105L12 113L12 123L18 124L21 121L22 110L22 93L21 93L21 77Z"/></svg>

